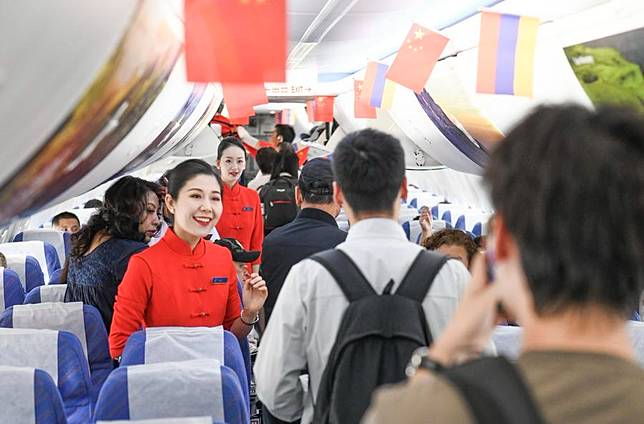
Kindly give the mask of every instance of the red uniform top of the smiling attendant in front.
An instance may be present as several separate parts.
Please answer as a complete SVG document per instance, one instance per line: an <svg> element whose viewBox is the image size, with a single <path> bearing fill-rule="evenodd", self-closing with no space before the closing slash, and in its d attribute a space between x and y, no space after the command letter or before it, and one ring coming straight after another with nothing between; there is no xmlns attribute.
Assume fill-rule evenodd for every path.
<svg viewBox="0 0 644 424"><path fill-rule="evenodd" d="M168 228L157 244L130 258L114 304L110 354L121 355L142 326L229 330L240 314L230 251L203 239L191 250Z"/></svg>

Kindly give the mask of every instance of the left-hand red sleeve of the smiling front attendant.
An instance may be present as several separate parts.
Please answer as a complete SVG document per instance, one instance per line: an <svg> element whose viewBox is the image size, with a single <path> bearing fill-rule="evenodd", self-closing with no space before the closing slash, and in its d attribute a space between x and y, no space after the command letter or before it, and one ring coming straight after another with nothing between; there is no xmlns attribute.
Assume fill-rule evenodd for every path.
<svg viewBox="0 0 644 424"><path fill-rule="evenodd" d="M133 256L119 284L110 329L110 355L116 358L130 334L141 329L152 293L152 270L141 258Z"/></svg>

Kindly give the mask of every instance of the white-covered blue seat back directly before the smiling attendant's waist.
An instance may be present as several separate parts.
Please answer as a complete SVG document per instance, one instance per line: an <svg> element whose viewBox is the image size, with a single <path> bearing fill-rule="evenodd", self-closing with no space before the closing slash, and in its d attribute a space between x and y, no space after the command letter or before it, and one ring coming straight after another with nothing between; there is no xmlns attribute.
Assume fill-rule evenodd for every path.
<svg viewBox="0 0 644 424"><path fill-rule="evenodd" d="M219 327L152 327L134 332L127 340L121 365L156 364L215 359L232 369L249 400L249 375L239 340Z"/></svg>

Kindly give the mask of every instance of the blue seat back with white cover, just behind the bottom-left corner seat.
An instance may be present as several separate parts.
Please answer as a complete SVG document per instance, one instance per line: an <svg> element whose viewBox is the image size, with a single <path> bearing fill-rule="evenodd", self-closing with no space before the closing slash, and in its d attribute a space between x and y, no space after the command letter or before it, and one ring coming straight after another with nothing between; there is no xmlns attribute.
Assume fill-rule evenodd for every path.
<svg viewBox="0 0 644 424"><path fill-rule="evenodd" d="M56 382L67 422L90 422L92 385L75 335L67 331L0 328L0 345L0 365L43 370Z"/></svg>

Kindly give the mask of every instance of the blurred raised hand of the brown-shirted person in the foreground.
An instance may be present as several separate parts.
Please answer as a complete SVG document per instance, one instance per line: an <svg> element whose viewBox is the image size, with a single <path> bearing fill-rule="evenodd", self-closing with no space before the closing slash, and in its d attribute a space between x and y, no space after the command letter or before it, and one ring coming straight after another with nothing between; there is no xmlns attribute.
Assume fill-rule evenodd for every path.
<svg viewBox="0 0 644 424"><path fill-rule="evenodd" d="M499 294L499 286L487 282L485 255L477 254L463 301L430 347L429 356L446 366L479 356L498 319Z"/></svg>

